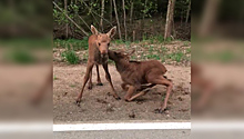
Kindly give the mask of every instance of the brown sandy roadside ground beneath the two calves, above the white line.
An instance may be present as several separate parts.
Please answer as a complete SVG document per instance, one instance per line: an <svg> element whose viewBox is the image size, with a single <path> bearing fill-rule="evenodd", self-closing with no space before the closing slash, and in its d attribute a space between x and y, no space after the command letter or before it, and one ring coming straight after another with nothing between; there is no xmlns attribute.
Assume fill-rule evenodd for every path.
<svg viewBox="0 0 244 139"><path fill-rule="evenodd" d="M67 66L53 64L53 121L54 123L85 122L85 121L118 121L118 120L190 120L191 118L191 67L165 66L167 78L173 80L173 93L169 100L169 110L164 113L154 113L160 106L161 93L166 88L155 86L149 93L135 101L125 102L110 96L110 86L105 80L104 71L100 66L103 86L96 85L96 72L93 69L93 89L85 87L81 106L75 98L81 90L85 64ZM119 96L125 92L121 89L121 78L113 64L109 66L113 85Z"/></svg>

